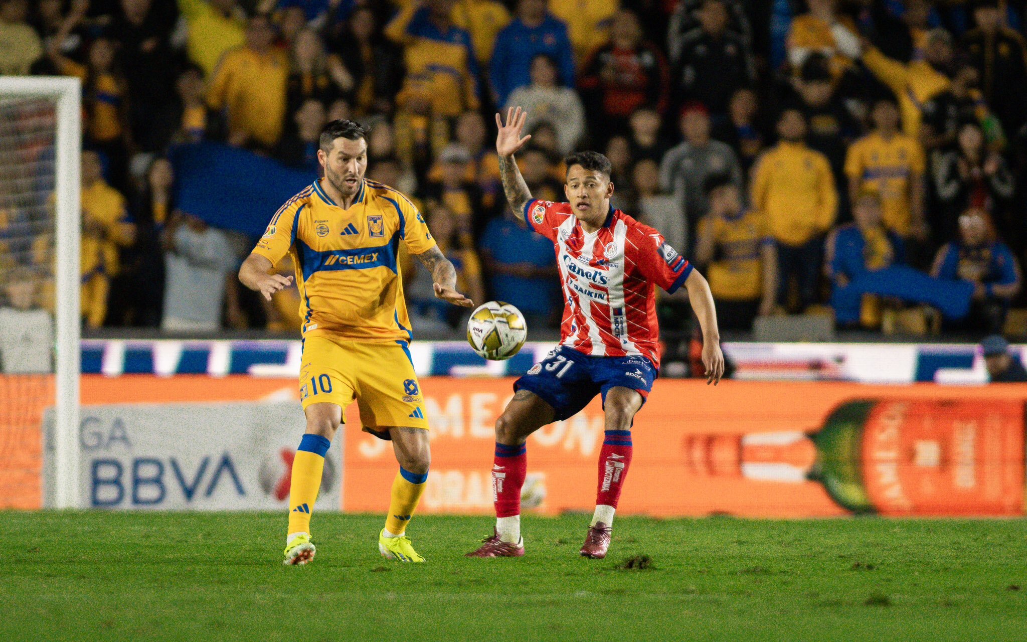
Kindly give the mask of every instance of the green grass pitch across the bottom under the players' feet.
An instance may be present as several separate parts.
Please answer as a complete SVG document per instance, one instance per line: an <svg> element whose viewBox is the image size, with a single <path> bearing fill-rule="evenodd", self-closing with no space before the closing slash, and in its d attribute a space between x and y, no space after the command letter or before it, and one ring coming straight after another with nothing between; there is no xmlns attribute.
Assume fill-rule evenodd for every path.
<svg viewBox="0 0 1027 642"><path fill-rule="evenodd" d="M625 518L585 560L586 520L477 560L491 519L421 518L404 565L321 514L283 567L283 515L0 513L0 640L1027 639L1024 521Z"/></svg>

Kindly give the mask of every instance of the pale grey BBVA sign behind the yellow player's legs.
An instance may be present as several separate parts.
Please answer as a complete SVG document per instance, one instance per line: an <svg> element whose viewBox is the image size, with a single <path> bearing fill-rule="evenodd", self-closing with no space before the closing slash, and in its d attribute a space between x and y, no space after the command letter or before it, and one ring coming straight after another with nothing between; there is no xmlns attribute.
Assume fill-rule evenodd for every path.
<svg viewBox="0 0 1027 642"><path fill-rule="evenodd" d="M283 509L304 420L295 402L83 406L82 508ZM329 449L317 508L338 511L341 440ZM44 503L52 505L47 428Z"/></svg>

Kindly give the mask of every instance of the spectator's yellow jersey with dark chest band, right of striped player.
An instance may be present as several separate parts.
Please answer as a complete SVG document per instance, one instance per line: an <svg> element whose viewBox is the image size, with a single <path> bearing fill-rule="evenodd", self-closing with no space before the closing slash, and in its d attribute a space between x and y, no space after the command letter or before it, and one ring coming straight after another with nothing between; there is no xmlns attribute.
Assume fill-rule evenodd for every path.
<svg viewBox="0 0 1027 642"><path fill-rule="evenodd" d="M766 217L750 210L734 218L707 216L699 221L698 235L713 226L714 260L707 271L715 299L751 301L763 294L761 249L773 240Z"/></svg>

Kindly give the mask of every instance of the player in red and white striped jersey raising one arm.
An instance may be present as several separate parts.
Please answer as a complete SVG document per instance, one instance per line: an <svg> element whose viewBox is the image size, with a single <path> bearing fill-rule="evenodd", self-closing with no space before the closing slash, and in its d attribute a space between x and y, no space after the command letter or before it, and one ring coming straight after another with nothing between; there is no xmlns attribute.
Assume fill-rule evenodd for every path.
<svg viewBox="0 0 1027 642"><path fill-rule="evenodd" d="M496 151L503 190L514 215L553 241L567 304L560 345L514 384L514 399L496 420L492 466L496 529L468 557L520 557L521 488L527 471L525 441L566 419L602 394L606 438L599 456L596 512L581 555L606 557L613 514L632 463L632 425L659 369L656 287L687 296L702 328L708 383L724 373L717 313L707 280L655 229L610 204L610 161L596 152L565 160L569 202L532 198L514 154L526 114L496 114ZM684 286L683 290L679 290ZM675 294L679 293L679 294Z"/></svg>

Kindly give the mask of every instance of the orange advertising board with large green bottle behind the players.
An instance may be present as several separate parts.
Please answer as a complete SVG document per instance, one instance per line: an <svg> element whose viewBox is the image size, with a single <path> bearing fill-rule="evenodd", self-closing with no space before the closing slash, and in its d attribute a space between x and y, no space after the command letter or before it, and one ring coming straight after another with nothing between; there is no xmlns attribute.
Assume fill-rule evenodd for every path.
<svg viewBox="0 0 1027 642"><path fill-rule="evenodd" d="M510 378L422 380L424 412L433 430L432 470L421 503L423 513L491 514L492 426L512 393L511 383ZM250 402L275 408L280 420L265 423L274 426L277 441L249 455L258 470L275 449L280 453L295 448L302 431L292 378L140 375L111 379L92 375L82 377L82 399L83 417L94 416L93 405L149 404L154 409L149 420L163 418L154 428L175 442L176 453L191 457L185 468L188 473L183 474L194 476L188 479L189 485L204 456L211 456L208 465L214 465L214 457L221 452L218 445L245 446L229 433L238 427L197 420L193 408L180 407L175 420L161 404ZM724 381L713 387L695 380L660 380L633 429L635 457L621 512L765 518L863 512L1022 515L1025 402L1027 386L1017 384ZM111 420L121 416L134 421L142 416L143 408L128 408L130 413L122 415L116 414L117 408L97 410ZM340 506L348 512L382 512L395 475L391 449L357 428L355 408L347 416L354 424L336 437L330 451L341 451L343 457ZM10 461L16 452L25 464L21 474L0 470L0 501L5 507L38 507L41 485L38 473L32 471L40 470L42 462L38 460L41 455L34 460L31 453L42 452L40 433L24 426L0 429L0 460ZM117 440L111 439L112 427L106 429L104 439L117 446ZM126 433L134 429L131 423L124 426ZM817 435L816 441L807 435ZM83 422L83 447L100 439ZM598 401L577 416L532 436L526 506L546 515L591 511L602 440ZM158 457L160 452L147 451ZM174 470L167 473L170 456L164 455L165 475L174 478ZM84 469L91 466L83 461ZM85 493L94 492L90 484ZM261 505L284 507L284 500ZM222 507L251 506L226 499Z"/></svg>

